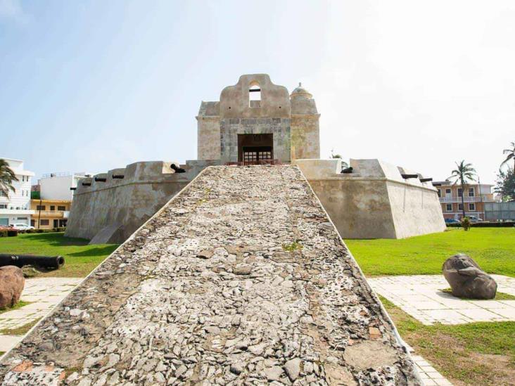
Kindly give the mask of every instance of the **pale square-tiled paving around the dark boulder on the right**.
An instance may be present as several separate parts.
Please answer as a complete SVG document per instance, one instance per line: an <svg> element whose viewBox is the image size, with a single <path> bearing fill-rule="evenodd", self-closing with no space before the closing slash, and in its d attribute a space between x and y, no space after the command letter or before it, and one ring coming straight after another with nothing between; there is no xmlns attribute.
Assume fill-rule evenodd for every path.
<svg viewBox="0 0 515 386"><path fill-rule="evenodd" d="M499 292L515 295L515 278L492 275ZM369 278L371 287L426 325L477 321L515 321L515 300L464 300L441 290L449 288L442 275Z"/></svg>

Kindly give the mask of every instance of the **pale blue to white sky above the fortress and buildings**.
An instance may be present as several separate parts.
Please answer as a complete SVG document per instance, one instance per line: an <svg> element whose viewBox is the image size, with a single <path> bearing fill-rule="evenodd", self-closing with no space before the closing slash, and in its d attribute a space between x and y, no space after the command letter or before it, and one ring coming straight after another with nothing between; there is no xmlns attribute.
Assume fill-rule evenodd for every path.
<svg viewBox="0 0 515 386"><path fill-rule="evenodd" d="M49 172L196 159L239 75L310 91L322 157L494 182L515 141L515 1L0 0L0 157Z"/></svg>

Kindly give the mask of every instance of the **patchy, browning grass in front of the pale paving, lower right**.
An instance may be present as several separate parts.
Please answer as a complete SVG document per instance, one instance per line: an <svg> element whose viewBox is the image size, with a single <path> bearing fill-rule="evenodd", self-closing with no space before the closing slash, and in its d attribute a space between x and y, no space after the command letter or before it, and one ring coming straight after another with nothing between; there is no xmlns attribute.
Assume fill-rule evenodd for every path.
<svg viewBox="0 0 515 386"><path fill-rule="evenodd" d="M513 385L515 322L424 326L381 297L402 339L455 385Z"/></svg>

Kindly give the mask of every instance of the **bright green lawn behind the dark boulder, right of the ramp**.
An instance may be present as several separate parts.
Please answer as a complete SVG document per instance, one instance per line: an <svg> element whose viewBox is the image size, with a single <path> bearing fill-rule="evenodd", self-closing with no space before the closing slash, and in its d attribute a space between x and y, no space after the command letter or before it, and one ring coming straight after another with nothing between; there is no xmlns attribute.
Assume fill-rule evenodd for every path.
<svg viewBox="0 0 515 386"><path fill-rule="evenodd" d="M515 277L515 228L449 229L402 240L345 240L366 276L441 274L445 259L466 253L489 274Z"/></svg>

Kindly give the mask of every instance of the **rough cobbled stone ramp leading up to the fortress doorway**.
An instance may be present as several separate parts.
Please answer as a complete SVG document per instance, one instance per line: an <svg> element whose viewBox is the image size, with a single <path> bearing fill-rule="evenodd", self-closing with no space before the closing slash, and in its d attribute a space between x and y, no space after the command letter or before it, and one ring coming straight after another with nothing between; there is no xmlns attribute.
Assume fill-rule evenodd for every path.
<svg viewBox="0 0 515 386"><path fill-rule="evenodd" d="M0 364L1 385L419 385L297 167L209 167Z"/></svg>

